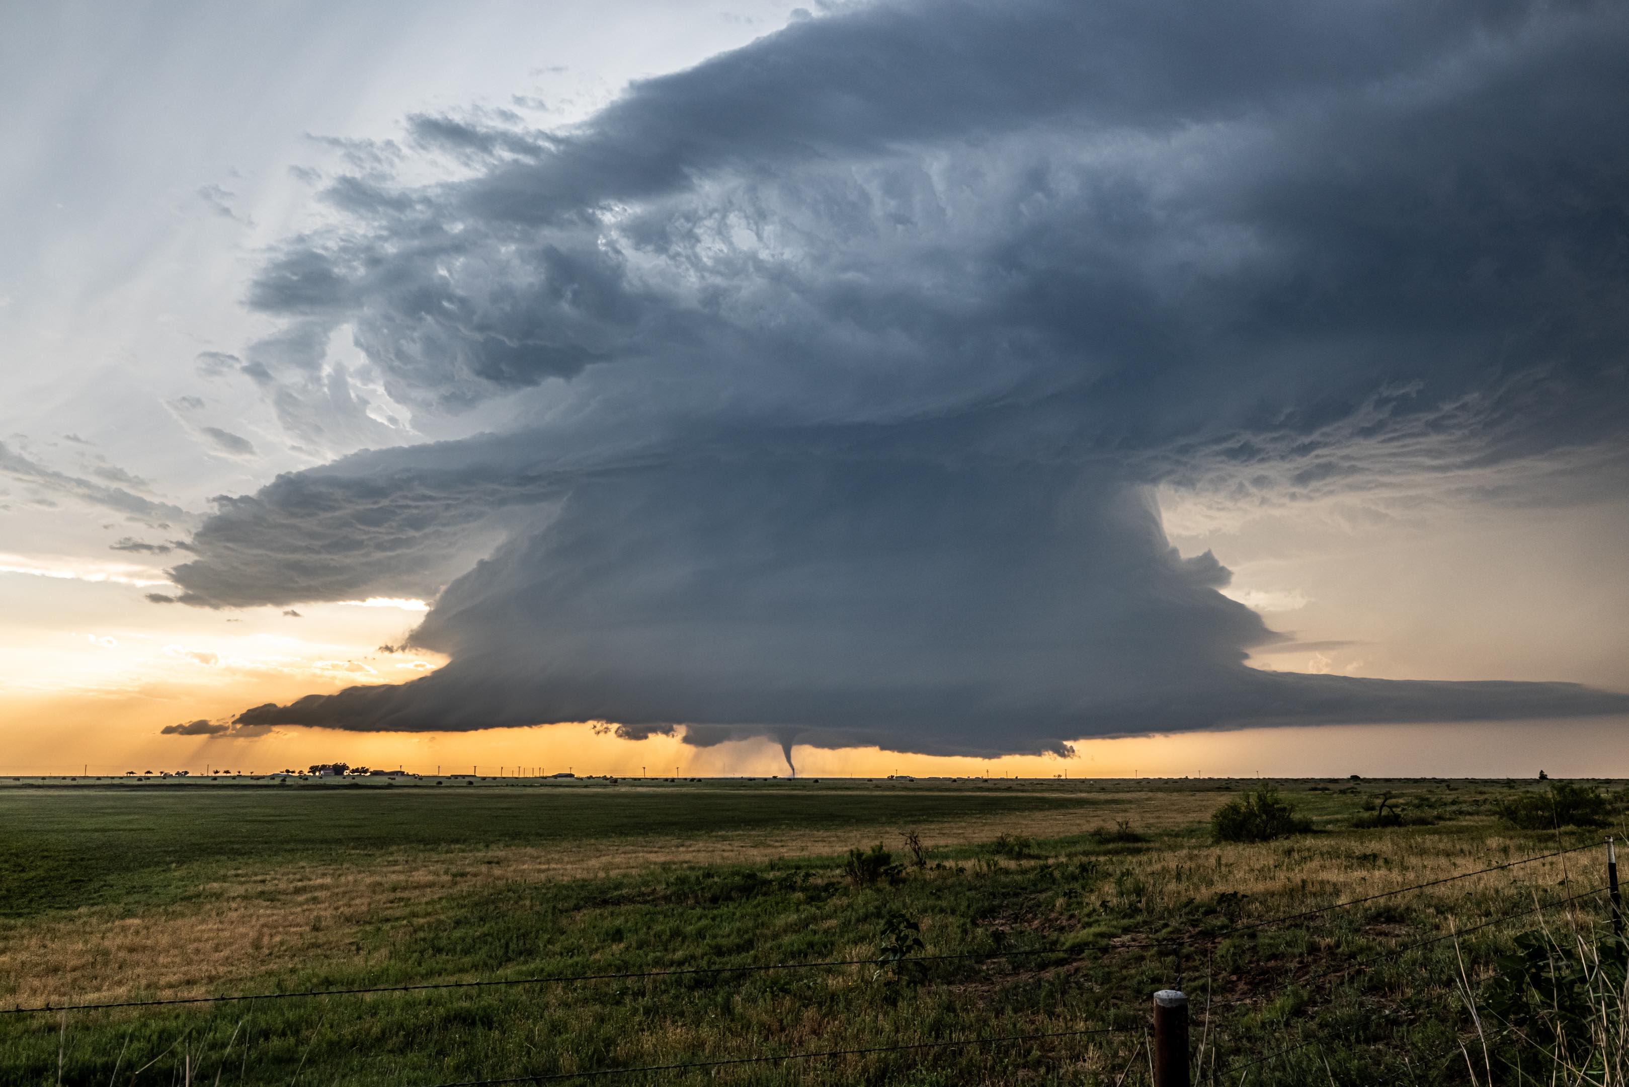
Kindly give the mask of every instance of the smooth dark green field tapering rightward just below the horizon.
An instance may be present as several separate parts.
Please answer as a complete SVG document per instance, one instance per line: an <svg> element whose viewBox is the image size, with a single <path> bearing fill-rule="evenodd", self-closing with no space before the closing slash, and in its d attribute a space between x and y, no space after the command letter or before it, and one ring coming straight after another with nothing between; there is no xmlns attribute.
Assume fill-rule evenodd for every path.
<svg viewBox="0 0 1629 1087"><path fill-rule="evenodd" d="M834 802L841 797L841 802ZM1000 787L696 786L37 789L0 792L0 918L181 900L222 865L743 830L823 830L1091 803Z"/></svg>

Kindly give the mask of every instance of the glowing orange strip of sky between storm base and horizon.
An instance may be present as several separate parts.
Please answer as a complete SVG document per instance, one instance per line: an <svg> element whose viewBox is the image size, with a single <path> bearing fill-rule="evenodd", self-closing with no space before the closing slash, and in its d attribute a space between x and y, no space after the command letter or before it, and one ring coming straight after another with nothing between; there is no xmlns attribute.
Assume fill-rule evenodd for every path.
<svg viewBox="0 0 1629 1087"><path fill-rule="evenodd" d="M59 707L60 709L60 707ZM259 737L161 735L132 727L151 714L135 702L60 719L49 732L15 735L0 774L140 774L145 769L267 772L314 763L409 772L552 774L614 777L787 776L779 745L754 737L714 746L684 743L683 730L624 740L603 724L557 724L482 732L344 732L275 727ZM795 745L798 777L1414 777L1629 776L1629 758L1603 764L1606 737L1622 719L1445 725L1323 725L1088 738L1075 753L997 758L935 756L875 746ZM1471 740L1474 738L1474 743ZM477 769L479 768L479 769Z"/></svg>

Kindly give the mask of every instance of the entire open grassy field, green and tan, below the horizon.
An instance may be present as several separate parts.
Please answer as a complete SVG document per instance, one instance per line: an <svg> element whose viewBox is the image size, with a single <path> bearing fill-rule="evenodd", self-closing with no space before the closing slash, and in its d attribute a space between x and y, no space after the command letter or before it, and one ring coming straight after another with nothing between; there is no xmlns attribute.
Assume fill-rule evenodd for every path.
<svg viewBox="0 0 1629 1087"><path fill-rule="evenodd" d="M1613 952L1605 896L1579 898L1605 849L1254 922L1621 830L1502 823L1539 782L1297 781L1311 833L1215 843L1253 784L13 784L0 1009L852 965L7 1014L0 1082L533 1082L1026 1036L593 1082L1147 1084L1148 997L1178 976L1217 1082L1619 1082L1552 1079L1595 1059L1588 1015L1499 994L1500 955ZM1383 794L1404 825L1354 826ZM876 843L886 865L849 860Z"/></svg>

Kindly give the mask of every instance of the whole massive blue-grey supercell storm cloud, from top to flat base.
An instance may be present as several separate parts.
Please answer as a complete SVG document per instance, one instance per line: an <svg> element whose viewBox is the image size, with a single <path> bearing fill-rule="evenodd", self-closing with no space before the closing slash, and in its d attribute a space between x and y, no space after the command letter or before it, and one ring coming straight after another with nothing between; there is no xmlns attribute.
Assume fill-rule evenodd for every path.
<svg viewBox="0 0 1629 1087"><path fill-rule="evenodd" d="M1150 495L1621 497L1626 46L1605 3L876 3L572 129L409 117L456 179L332 179L243 357L298 399L349 331L396 404L508 424L222 500L178 598L435 600L445 668L243 725L1012 753L1624 712L1251 670L1280 636Z"/></svg>

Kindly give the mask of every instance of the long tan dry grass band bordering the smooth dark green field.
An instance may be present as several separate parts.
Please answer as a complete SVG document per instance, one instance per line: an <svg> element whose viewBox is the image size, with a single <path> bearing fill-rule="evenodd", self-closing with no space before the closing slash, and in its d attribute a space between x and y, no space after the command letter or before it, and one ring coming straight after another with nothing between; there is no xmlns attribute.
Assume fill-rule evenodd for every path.
<svg viewBox="0 0 1629 1087"><path fill-rule="evenodd" d="M1122 794L1078 812L937 821L927 836L940 847L989 841L999 833L1060 838L1124 818L1153 830L1204 818L1214 803L1214 797L1202 794L1160 797L1158 803ZM202 887L191 901L138 918L85 908L67 918L0 922L0 978L10 979L0 996L7 1002L39 1004L60 1001L64 994L104 1001L134 992L223 992L279 963L362 962L357 934L363 924L454 891L513 880L627 875L656 865L762 864L841 854L878 838L898 847L901 830L907 828L595 839L546 849L440 849L363 865L350 860L235 872Z"/></svg>

